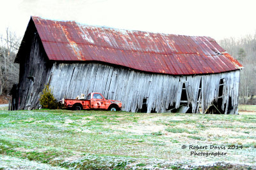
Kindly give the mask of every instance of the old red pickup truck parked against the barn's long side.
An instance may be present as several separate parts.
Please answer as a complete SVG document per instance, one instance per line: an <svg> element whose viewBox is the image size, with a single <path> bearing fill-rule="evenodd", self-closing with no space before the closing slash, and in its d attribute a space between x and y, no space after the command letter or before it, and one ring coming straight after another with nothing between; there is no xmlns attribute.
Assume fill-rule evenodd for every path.
<svg viewBox="0 0 256 170"><path fill-rule="evenodd" d="M105 99L100 93L90 93L86 97L81 95L77 99L62 99L64 108L72 108L73 110L111 110L118 111L122 108L120 101Z"/></svg>

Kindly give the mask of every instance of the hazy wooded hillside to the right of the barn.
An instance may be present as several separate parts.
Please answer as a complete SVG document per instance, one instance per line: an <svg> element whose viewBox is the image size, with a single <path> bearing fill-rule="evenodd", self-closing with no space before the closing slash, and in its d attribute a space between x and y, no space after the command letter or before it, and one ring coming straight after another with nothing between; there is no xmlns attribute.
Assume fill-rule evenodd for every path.
<svg viewBox="0 0 256 170"><path fill-rule="evenodd" d="M239 103L256 104L256 33L240 39L222 39L218 43L244 66L240 73Z"/></svg>

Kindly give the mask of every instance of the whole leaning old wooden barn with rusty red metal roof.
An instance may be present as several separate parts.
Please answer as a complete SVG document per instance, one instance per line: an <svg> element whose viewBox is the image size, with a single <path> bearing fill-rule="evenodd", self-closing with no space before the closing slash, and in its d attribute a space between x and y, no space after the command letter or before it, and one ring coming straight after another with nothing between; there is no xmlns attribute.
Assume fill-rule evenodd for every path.
<svg viewBox="0 0 256 170"><path fill-rule="evenodd" d="M212 38L31 17L15 62L12 110L100 92L124 111L237 114L243 66Z"/></svg>

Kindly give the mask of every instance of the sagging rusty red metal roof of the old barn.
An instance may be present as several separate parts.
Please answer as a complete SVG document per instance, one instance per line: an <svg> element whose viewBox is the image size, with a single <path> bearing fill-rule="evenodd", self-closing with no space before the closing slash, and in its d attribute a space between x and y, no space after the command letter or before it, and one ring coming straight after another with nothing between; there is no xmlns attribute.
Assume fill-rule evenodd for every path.
<svg viewBox="0 0 256 170"><path fill-rule="evenodd" d="M100 61L141 71L207 74L241 69L212 38L126 31L32 17L49 60Z"/></svg>

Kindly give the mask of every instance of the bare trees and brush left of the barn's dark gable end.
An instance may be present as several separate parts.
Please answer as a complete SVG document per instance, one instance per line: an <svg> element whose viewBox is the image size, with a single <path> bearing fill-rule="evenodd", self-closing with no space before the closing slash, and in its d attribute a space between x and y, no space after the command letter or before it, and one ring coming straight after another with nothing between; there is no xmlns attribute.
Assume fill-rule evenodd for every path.
<svg viewBox="0 0 256 170"><path fill-rule="evenodd" d="M0 95L8 94L13 83L17 83L19 79L19 64L15 64L14 60L20 39L8 28L5 35L0 35Z"/></svg>

